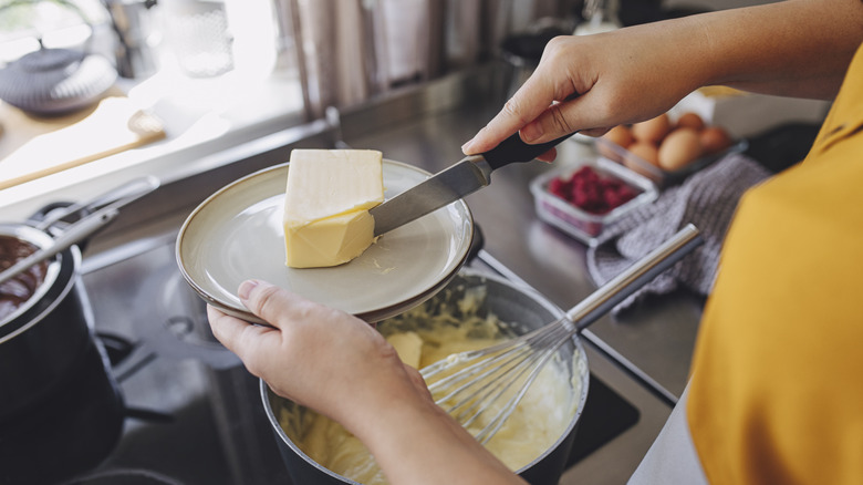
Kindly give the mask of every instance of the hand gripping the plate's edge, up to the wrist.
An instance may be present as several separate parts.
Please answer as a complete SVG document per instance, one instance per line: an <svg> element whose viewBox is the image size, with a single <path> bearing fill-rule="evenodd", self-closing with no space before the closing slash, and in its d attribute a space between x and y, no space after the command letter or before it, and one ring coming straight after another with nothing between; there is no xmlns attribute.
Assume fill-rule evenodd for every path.
<svg viewBox="0 0 863 485"><path fill-rule="evenodd" d="M238 293L272 327L208 307L212 333L277 394L349 429L394 394L430 402L419 373L368 323L263 281L246 281Z"/></svg>

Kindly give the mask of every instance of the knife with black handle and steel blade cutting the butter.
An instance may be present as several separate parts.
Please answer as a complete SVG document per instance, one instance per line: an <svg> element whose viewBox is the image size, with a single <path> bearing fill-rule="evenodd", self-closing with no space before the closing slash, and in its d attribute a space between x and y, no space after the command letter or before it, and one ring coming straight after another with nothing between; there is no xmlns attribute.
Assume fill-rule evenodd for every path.
<svg viewBox="0 0 863 485"><path fill-rule="evenodd" d="M486 153L466 156L455 165L370 209L368 213L375 219L375 236L386 234L487 186L491 183L491 172L512 163L530 162L570 136L572 133L551 142L530 145L522 142L516 133Z"/></svg>

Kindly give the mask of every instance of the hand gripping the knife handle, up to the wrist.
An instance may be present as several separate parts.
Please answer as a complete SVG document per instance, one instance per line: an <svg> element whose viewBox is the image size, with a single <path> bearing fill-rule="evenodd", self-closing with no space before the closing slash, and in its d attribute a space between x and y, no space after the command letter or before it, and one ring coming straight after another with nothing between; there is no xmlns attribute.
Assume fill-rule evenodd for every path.
<svg viewBox="0 0 863 485"><path fill-rule="evenodd" d="M668 49L665 39L656 25L552 39L533 74L462 151L487 152L516 132L527 143L576 131L600 136L664 113L699 85L697 71L680 65L687 47Z"/></svg>

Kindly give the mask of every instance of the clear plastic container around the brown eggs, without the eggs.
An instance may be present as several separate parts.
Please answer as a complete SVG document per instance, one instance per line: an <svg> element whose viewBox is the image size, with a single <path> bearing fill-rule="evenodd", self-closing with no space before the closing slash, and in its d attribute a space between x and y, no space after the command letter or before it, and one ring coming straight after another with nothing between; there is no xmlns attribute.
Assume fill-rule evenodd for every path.
<svg viewBox="0 0 863 485"><path fill-rule="evenodd" d="M731 146L729 146L728 148L721 152L717 152L710 155L705 155L696 161L686 164L686 166L684 166L683 168L669 172L657 167L656 165L647 162L646 159L631 153L626 148L616 145L605 138L596 138L595 143L596 143L597 151L600 151L601 153L609 154L610 161L613 161L617 164L625 165L631 171L637 172L638 174L649 178L651 180L653 180L654 184L656 184L658 188L665 188L670 185L678 184L689 175L713 164L719 158L722 158L724 156L730 155L732 153L744 152L749 146L746 140L739 140L736 141ZM614 156L611 156L612 154Z"/></svg>

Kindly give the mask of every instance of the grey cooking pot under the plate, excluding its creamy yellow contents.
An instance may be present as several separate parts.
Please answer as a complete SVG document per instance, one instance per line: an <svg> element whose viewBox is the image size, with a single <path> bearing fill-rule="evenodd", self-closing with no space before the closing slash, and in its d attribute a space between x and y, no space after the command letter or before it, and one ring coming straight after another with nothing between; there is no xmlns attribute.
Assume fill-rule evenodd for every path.
<svg viewBox="0 0 863 485"><path fill-rule="evenodd" d="M484 297L477 298L478 293ZM458 275L441 291L424 302L422 308L429 314L437 312L459 314L466 299L474 302L477 314L495 316L496 320L507 322L506 326L501 327L505 334L528 333L564 316L559 307L538 291L527 288L524 285L514 283L488 270L470 267L459 270ZM399 320L399 318L396 317L394 320ZM391 324L399 323L394 320L382 321L378 323L378 328L386 332ZM568 466L568 460L571 456L576 431L583 421L582 411L590 390L588 358L578 337L559 349L558 358L563 373L561 384L570 386L572 390L573 405L563 406L562 404L561 412L566 413L568 424L562 426L560 435L552 438L553 442L548 448L539 453L534 460L513 471L533 485L557 485L560 483L563 469ZM298 445L312 423L312 420L309 419L311 417L309 409L277 395L262 380L260 381L260 393L267 417L275 435L279 452L293 483L356 484L355 481L322 466ZM423 436L416 438L423 440Z"/></svg>

